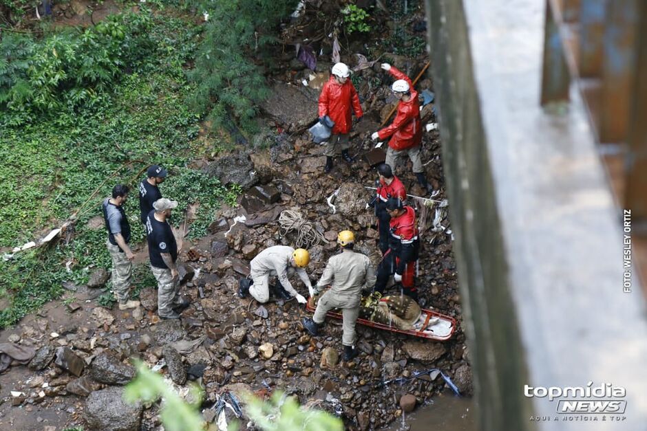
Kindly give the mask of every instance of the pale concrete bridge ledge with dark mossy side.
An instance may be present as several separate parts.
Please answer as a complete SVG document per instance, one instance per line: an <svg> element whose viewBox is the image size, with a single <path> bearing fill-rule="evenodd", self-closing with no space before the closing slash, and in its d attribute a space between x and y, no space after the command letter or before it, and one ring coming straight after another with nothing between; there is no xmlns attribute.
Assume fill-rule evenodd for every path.
<svg viewBox="0 0 647 431"><path fill-rule="evenodd" d="M647 324L577 93L539 105L542 0L427 0L429 48L482 430L644 430ZM524 385L626 388L622 423L562 421ZM550 421L531 421L534 416ZM558 417L558 421L552 420Z"/></svg>

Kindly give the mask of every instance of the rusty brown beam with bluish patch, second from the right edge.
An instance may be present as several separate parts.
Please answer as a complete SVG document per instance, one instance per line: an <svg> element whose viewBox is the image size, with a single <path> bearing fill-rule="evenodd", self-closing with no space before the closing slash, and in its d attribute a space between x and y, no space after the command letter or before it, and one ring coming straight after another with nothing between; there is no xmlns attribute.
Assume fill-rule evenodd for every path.
<svg viewBox="0 0 647 431"><path fill-rule="evenodd" d="M636 0L606 5L602 62L601 142L626 142L635 68Z"/></svg>

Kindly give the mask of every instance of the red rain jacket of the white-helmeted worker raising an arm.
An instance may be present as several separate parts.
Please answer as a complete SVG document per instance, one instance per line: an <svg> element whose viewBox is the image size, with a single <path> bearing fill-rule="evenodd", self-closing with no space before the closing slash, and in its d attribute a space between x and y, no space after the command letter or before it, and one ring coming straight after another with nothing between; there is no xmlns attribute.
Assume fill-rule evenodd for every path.
<svg viewBox="0 0 647 431"><path fill-rule="evenodd" d="M408 76L391 66L389 73L396 79L403 79L409 82L411 98L408 102L400 100L398 103L398 113L395 120L386 126L377 134L380 140L385 140L392 136L389 146L396 151L406 150L412 146L420 145L423 140L423 129L420 119L420 102L418 102L418 91L414 89Z"/></svg>

